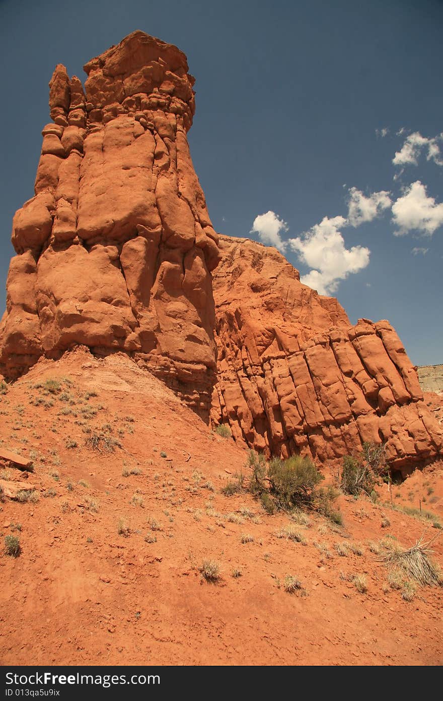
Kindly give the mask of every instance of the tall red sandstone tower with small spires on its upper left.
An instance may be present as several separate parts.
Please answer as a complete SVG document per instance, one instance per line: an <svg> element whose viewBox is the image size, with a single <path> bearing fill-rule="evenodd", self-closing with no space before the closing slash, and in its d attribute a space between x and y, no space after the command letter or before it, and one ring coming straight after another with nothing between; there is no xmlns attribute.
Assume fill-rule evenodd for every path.
<svg viewBox="0 0 443 701"><path fill-rule="evenodd" d="M85 65L57 65L35 196L13 219L0 372L75 344L132 355L207 416L216 372L218 236L186 133L194 79L143 32Z"/></svg>

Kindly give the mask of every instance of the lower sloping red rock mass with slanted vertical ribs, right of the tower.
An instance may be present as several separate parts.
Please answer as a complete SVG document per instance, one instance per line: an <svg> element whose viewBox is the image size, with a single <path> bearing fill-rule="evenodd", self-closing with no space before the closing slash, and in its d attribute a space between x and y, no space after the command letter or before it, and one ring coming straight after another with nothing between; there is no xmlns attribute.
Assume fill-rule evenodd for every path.
<svg viewBox="0 0 443 701"><path fill-rule="evenodd" d="M225 236L219 246L213 423L268 455L322 463L365 441L386 442L403 472L439 454L442 430L387 321L352 326L273 248Z"/></svg>

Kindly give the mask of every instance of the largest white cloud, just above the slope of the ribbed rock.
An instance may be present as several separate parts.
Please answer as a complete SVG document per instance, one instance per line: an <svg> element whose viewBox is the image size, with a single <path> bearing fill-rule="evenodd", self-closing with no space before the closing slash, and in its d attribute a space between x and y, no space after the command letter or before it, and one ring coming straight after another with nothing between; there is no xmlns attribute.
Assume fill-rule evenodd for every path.
<svg viewBox="0 0 443 701"><path fill-rule="evenodd" d="M363 246L347 249L339 229L346 226L344 217L324 217L309 231L298 238L290 238L290 248L299 259L314 268L300 278L304 285L309 285L319 294L333 294L340 280L345 280L350 273L358 273L367 266L370 250Z"/></svg>

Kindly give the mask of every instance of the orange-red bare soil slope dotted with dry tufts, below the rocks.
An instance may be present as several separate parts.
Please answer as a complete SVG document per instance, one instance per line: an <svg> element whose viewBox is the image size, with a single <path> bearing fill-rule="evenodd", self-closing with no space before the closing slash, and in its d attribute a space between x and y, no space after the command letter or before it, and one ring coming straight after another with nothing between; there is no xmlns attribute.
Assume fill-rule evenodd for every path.
<svg viewBox="0 0 443 701"><path fill-rule="evenodd" d="M35 387L53 378L62 381L54 395ZM62 392L75 403L63 401ZM97 396L86 400L87 392ZM38 397L53 406L30 403ZM287 515L267 515L249 494L220 494L244 468L246 449L211 433L125 355L97 360L76 351L38 362L0 398L2 447L20 450L35 466L28 477L13 468L1 476L27 479L41 494L37 503L0 505L1 545L11 533L22 547L16 559L0 556L3 665L442 662L442 588L418 588L413 601L384 592L386 566L367 547L387 534L410 545L425 530L426 539L439 532L424 521L341 496L343 528L313 516L309 526L297 526L306 545L277 538ZM122 447L100 454L85 440L106 424ZM92 433L83 432L87 426ZM68 440L76 447L66 447ZM141 472L123 477L124 468ZM435 463L395 487L393 503L416 506L421 495L422 508L442 516L442 485L442 465ZM50 489L54 496L44 498ZM143 505L132 503L134 495ZM240 509L257 518L247 512L242 523L225 518L237 512L239 520ZM384 529L382 515L391 523ZM120 518L127 537L118 534ZM160 530L152 529L154 519ZM253 541L241 543L244 533ZM314 542L327 543L332 557ZM363 555L339 557L337 542L360 543ZM440 563L442 546L437 538L433 557ZM220 564L218 583L202 579L204 559ZM287 574L304 590L286 593ZM363 594L348 580L356 574L367 579Z"/></svg>

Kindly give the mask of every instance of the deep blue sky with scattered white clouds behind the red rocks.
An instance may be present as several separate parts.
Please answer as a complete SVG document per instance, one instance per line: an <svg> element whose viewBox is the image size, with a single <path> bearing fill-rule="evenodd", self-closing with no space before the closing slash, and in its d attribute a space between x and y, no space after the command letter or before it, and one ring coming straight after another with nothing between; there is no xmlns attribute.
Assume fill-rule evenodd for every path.
<svg viewBox="0 0 443 701"><path fill-rule="evenodd" d="M388 318L412 362L443 362L441 1L3 0L0 27L2 308L55 64L83 79L142 29L197 78L189 141L216 230L274 240L351 322Z"/></svg>

